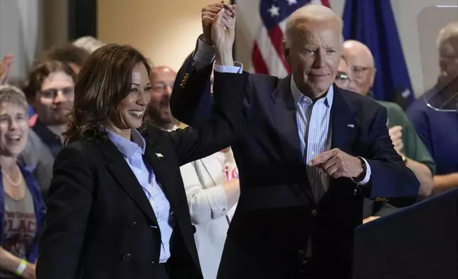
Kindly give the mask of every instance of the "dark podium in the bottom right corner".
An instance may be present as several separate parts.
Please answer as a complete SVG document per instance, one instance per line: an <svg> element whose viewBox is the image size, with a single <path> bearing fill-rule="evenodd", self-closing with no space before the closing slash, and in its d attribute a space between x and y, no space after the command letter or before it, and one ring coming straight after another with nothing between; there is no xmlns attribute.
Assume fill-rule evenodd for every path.
<svg viewBox="0 0 458 279"><path fill-rule="evenodd" d="M356 228L353 279L457 279L458 189Z"/></svg>

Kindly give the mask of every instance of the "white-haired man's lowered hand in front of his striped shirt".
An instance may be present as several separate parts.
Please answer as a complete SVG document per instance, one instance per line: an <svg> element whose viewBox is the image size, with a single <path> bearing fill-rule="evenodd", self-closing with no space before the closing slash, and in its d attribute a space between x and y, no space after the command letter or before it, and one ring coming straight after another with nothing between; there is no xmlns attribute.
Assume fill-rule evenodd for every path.
<svg viewBox="0 0 458 279"><path fill-rule="evenodd" d="M311 159L309 166L319 167L335 179L359 177L364 169L361 160L346 154L338 148L323 152Z"/></svg>

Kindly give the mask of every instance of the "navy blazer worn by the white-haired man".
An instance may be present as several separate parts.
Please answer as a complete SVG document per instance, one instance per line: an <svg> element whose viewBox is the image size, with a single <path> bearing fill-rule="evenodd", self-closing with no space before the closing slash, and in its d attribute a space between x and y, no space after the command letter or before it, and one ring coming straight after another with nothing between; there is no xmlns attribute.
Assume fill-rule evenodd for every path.
<svg viewBox="0 0 458 279"><path fill-rule="evenodd" d="M185 61L170 103L178 120L196 125L212 117L211 70L212 65L194 70L191 57ZM245 132L232 146L240 199L218 278L300 278L309 236L319 278L351 278L353 233L362 223L363 197L395 206L415 202L420 184L393 147L385 108L336 85L331 148L365 158L371 179L358 187L351 179L331 179L326 194L314 202L290 82L291 75L249 75Z"/></svg>

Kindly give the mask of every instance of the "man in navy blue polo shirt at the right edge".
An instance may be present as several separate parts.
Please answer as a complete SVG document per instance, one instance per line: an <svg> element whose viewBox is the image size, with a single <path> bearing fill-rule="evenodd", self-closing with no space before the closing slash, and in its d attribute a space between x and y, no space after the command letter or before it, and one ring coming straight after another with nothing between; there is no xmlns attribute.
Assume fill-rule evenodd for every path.
<svg viewBox="0 0 458 279"><path fill-rule="evenodd" d="M437 165L434 194L458 187L458 22L442 28L437 48L437 83L408 108L408 117Z"/></svg>

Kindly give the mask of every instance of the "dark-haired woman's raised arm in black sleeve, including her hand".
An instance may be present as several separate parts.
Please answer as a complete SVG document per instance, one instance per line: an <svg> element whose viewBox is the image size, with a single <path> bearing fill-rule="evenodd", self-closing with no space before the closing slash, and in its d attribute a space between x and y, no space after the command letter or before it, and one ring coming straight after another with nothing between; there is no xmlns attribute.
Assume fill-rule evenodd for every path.
<svg viewBox="0 0 458 279"><path fill-rule="evenodd" d="M214 116L202 124L169 133L180 165L207 157L228 147L235 142L245 125L243 100L249 84L248 74L241 73L241 68L234 66L232 58L234 29L235 12L230 9L220 10L212 26L212 38L216 46ZM196 86L194 83L199 82L199 78L190 75L186 84L193 88Z"/></svg>

